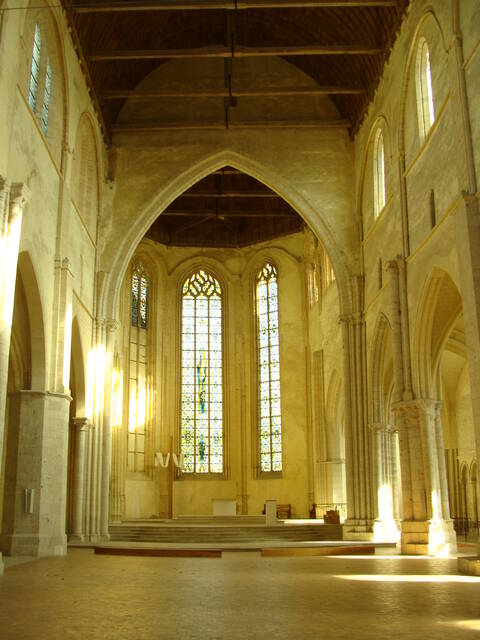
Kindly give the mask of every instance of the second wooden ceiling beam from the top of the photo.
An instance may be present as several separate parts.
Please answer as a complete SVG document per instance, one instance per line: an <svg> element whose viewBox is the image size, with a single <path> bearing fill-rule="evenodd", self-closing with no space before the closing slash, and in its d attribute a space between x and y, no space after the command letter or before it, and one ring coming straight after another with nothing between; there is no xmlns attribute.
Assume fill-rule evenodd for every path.
<svg viewBox="0 0 480 640"><path fill-rule="evenodd" d="M111 60L171 60L191 58L265 58L272 56L378 56L378 46L361 44L307 45L286 47L198 47L194 49L138 49L131 51L96 51L89 56L91 62Z"/></svg>

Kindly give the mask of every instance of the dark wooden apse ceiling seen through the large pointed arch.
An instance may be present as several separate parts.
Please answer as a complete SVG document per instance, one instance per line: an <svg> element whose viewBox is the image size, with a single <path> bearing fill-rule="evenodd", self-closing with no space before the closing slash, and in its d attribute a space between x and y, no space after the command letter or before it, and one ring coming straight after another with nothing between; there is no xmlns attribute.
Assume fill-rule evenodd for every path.
<svg viewBox="0 0 480 640"><path fill-rule="evenodd" d="M224 167L174 200L146 237L173 246L242 247L295 233L303 224L274 191Z"/></svg>

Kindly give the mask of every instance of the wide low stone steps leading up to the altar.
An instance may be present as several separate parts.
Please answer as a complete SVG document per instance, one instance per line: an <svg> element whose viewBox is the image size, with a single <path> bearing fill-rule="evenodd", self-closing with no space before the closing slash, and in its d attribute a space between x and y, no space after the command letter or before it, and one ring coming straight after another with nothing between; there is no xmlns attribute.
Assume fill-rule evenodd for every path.
<svg viewBox="0 0 480 640"><path fill-rule="evenodd" d="M112 542L152 543L260 543L260 542L318 542L342 540L342 526L337 524L279 524L265 525L188 525L139 524L123 522L110 525Z"/></svg>

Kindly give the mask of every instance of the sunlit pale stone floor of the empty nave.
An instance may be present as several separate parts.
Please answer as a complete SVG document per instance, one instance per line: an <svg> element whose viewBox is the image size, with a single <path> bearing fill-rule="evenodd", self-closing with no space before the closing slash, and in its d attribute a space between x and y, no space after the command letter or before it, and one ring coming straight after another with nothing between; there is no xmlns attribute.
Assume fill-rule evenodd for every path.
<svg viewBox="0 0 480 640"><path fill-rule="evenodd" d="M0 638L474 638L480 579L456 558L95 556L8 564Z"/></svg>

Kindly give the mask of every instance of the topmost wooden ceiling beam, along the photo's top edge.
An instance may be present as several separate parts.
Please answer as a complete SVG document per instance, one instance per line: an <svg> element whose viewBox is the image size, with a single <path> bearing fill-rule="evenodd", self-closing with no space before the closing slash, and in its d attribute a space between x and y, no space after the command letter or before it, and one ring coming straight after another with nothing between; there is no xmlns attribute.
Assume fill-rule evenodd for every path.
<svg viewBox="0 0 480 640"><path fill-rule="evenodd" d="M324 9L344 7L396 7L397 0L157 0L157 2L78 2L76 13L124 11L194 11L204 9Z"/></svg>

